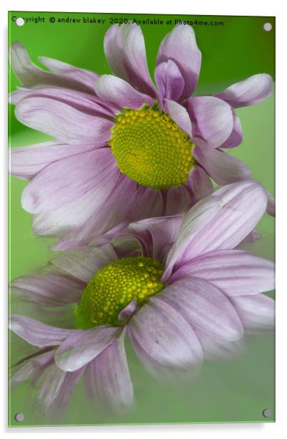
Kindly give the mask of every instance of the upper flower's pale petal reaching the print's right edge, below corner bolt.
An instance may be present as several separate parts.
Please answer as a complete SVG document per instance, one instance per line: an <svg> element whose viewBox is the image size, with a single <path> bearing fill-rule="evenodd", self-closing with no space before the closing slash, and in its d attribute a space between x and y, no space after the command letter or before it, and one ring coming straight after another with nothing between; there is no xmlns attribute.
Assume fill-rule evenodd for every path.
<svg viewBox="0 0 287 439"><path fill-rule="evenodd" d="M258 73L226 88L217 97L226 100L233 108L254 105L268 98L273 91L273 79L266 73Z"/></svg>

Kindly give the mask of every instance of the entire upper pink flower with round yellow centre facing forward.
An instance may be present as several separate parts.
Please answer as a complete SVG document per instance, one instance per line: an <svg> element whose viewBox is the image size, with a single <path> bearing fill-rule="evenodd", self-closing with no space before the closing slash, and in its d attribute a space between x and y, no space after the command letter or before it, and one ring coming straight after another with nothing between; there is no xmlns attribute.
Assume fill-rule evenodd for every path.
<svg viewBox="0 0 287 439"><path fill-rule="evenodd" d="M190 26L177 26L161 42L157 88L139 26L112 26L104 50L116 76L41 57L50 69L43 71L20 43L11 46L11 66L22 83L11 94L16 117L56 138L11 151L11 173L31 180L22 205L35 214L37 234L89 242L125 220L188 210L211 193L209 177L219 185L251 177L222 148L242 140L233 108L267 98L271 76L191 97L201 51Z"/></svg>

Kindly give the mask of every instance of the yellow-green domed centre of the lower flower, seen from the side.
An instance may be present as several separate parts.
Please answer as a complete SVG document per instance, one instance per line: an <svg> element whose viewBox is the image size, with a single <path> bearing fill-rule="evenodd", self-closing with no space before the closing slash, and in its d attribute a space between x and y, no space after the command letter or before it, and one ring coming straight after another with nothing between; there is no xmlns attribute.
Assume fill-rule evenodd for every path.
<svg viewBox="0 0 287 439"><path fill-rule="evenodd" d="M76 309L80 328L119 325L119 312L133 299L142 306L163 289L161 262L149 257L127 257L112 262L91 278Z"/></svg>

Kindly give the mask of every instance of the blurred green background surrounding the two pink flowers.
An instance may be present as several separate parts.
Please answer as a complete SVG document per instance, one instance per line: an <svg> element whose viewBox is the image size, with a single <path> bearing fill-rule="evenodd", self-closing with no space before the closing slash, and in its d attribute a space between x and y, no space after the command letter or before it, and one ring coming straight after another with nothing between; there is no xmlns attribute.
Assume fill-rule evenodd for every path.
<svg viewBox="0 0 287 439"><path fill-rule="evenodd" d="M106 19L101 24L25 24L19 28L11 16L54 17L96 16ZM273 17L234 16L156 16L115 14L128 19L160 18L223 21L224 26L193 26L198 46L203 53L201 76L196 94L216 93L233 82L255 73L270 73L274 77L275 19ZM110 73L104 57L103 39L113 14L67 14L13 12L9 18L9 41L19 40L33 59L50 56L89 68L97 73ZM263 31L270 22L273 29ZM148 66L153 73L159 43L173 26L141 26L146 39ZM18 81L13 73L13 91ZM252 169L253 177L274 192L274 96L249 108L237 110L243 126L244 140L240 147L228 152L244 160ZM29 145L46 140L48 136L29 130L10 113L11 147ZM31 273L49 260L53 239L36 237L31 231L31 215L21 209L21 192L26 182L11 177L10 185L10 278ZM263 239L246 244L256 254L274 257L274 220L265 216L258 224ZM16 348L11 349L14 356ZM16 346L16 345L15 345ZM274 338L273 334L248 336L246 351L239 358L227 362L206 362L201 373L186 384L159 383L148 375L127 346L134 382L136 405L121 415L100 413L84 396L83 386L77 386L69 410L61 418L51 418L37 412L33 393L28 384L11 392L9 425L82 425L100 423L203 423L203 422L270 422L274 420ZM262 416L264 408L271 408L272 417ZM16 423L15 413L25 415L23 423Z"/></svg>

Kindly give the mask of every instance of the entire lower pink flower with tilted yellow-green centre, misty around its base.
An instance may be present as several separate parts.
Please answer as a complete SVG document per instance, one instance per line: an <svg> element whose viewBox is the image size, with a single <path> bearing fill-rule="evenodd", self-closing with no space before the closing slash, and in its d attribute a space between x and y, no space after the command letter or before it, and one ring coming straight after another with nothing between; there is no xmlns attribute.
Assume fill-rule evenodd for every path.
<svg viewBox="0 0 287 439"><path fill-rule="evenodd" d="M17 363L12 381L30 377L46 408L59 408L84 375L89 396L129 406L125 336L162 376L236 351L244 330L271 328L274 302L262 293L273 289L273 262L234 249L266 205L261 185L233 183L183 217L130 224L101 247L63 252L54 271L16 279L12 290L25 301L76 311L71 329L11 316L11 330L40 348Z"/></svg>

